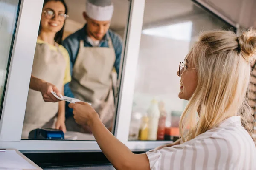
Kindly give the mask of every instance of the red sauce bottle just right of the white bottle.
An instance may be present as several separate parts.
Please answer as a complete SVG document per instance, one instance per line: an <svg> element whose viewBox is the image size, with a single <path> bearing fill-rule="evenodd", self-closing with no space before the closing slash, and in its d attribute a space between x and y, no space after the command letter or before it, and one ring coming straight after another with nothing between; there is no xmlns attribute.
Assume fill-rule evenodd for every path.
<svg viewBox="0 0 256 170"><path fill-rule="evenodd" d="M164 102L159 102L159 111L160 111L160 118L158 121L158 129L157 129L157 140L161 141L164 140L165 135L165 124L166 124L166 110Z"/></svg>

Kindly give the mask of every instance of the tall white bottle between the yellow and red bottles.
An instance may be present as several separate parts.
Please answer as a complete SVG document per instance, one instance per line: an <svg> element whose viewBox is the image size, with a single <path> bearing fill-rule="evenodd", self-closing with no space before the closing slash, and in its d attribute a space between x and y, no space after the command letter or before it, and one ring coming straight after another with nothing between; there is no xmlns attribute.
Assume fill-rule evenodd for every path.
<svg viewBox="0 0 256 170"><path fill-rule="evenodd" d="M151 105L147 110L148 113L148 140L155 141L157 140L157 128L158 121L160 117L160 111L158 108L157 100L153 99Z"/></svg>

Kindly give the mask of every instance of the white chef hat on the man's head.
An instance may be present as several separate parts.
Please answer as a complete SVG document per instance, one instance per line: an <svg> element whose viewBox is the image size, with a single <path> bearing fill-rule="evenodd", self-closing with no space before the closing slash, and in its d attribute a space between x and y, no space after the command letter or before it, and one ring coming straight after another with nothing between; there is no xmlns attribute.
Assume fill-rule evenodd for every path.
<svg viewBox="0 0 256 170"><path fill-rule="evenodd" d="M114 5L111 0L87 0L86 13L93 20L111 20L113 11Z"/></svg>

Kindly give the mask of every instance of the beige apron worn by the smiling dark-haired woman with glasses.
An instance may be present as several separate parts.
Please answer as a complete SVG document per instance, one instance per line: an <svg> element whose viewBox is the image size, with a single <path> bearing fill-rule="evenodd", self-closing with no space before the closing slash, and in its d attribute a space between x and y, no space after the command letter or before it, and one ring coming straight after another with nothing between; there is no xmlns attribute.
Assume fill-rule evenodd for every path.
<svg viewBox="0 0 256 170"><path fill-rule="evenodd" d="M35 57L32 67L32 75L46 82L56 85L58 89L63 88L66 61L61 52L51 50L47 44L36 44ZM58 112L58 102L44 102L41 92L29 89L26 103L26 112L23 124L23 138L28 132L47 125ZM53 121L51 121L53 123Z"/></svg>

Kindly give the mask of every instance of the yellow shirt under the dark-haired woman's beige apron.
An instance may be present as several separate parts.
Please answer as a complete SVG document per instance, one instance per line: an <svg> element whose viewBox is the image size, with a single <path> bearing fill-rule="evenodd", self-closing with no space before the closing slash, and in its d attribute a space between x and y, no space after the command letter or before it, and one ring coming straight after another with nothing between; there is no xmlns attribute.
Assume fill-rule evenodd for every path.
<svg viewBox="0 0 256 170"><path fill-rule="evenodd" d="M37 39L37 43L38 44L48 44L47 42L44 42L43 40ZM54 45L50 45L48 44L51 50L58 50L57 47L55 47ZM61 54L63 55L63 57L65 58L66 61L66 69L65 69L65 76L64 76L64 80L63 80L63 85L65 85L66 83L71 81L71 75L70 75L70 57L69 54L66 50L66 48L64 48L62 45L59 45L59 50L61 51Z"/></svg>

